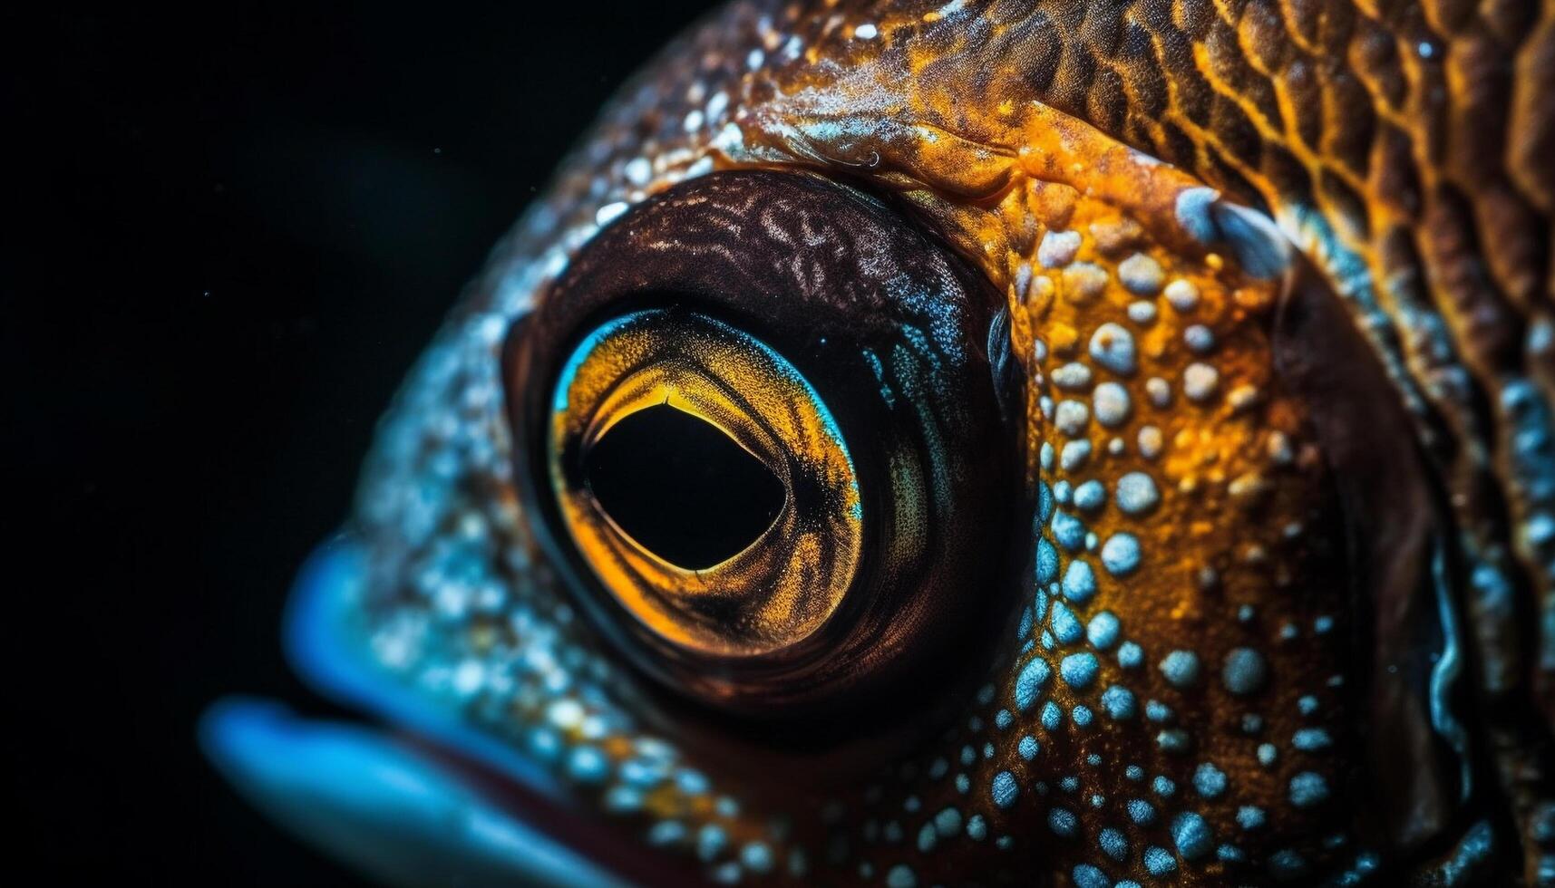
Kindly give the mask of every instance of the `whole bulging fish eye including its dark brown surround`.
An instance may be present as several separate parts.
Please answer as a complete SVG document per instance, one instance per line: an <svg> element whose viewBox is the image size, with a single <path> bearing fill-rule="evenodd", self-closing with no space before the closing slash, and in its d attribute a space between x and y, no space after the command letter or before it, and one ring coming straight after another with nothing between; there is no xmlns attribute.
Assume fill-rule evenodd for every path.
<svg viewBox="0 0 1555 888"><path fill-rule="evenodd" d="M1008 614L964 594L997 586L978 552L1020 488L980 286L799 173L602 230L507 348L519 488L596 627L662 687L793 714L922 680Z"/></svg>

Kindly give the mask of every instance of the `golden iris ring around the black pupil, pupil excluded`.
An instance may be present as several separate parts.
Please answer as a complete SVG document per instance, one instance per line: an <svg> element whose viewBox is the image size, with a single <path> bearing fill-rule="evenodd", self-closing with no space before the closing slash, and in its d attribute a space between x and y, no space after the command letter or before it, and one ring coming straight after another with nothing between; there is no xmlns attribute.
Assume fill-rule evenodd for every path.
<svg viewBox="0 0 1555 888"><path fill-rule="evenodd" d="M591 449L655 407L718 429L782 484L771 524L711 566L641 543L592 490ZM863 505L835 418L787 359L704 314L634 311L591 331L557 383L547 462L563 523L600 582L683 649L770 655L813 635L854 582Z"/></svg>

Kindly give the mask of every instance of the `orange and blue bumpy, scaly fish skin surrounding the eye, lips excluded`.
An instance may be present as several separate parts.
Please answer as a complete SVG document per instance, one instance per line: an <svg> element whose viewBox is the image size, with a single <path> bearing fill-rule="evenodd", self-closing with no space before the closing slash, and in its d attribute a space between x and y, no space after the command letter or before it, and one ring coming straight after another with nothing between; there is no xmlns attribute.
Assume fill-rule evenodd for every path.
<svg viewBox="0 0 1555 888"><path fill-rule="evenodd" d="M386 420L356 630L715 879L1536 883L1552 59L1550 3L731 6L606 112ZM512 320L630 205L737 168L893 194L1009 313L1009 627L891 754L753 753L661 709L513 488ZM1427 493L1347 526L1392 490L1367 471ZM1522 848L1497 865L1493 835Z"/></svg>

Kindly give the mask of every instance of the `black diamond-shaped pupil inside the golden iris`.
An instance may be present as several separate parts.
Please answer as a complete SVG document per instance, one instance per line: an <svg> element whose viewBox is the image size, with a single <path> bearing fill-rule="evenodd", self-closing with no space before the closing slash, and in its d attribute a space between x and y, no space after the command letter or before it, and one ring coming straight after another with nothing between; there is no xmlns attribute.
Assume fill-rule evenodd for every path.
<svg viewBox="0 0 1555 888"><path fill-rule="evenodd" d="M712 423L670 406L616 423L583 457L594 499L633 540L698 571L739 554L784 504L784 487Z"/></svg>

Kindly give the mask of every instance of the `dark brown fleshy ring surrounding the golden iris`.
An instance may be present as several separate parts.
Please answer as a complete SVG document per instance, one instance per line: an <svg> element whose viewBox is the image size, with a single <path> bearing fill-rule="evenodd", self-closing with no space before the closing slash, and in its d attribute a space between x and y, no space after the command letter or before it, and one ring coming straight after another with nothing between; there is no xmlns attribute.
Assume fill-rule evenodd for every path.
<svg viewBox="0 0 1555 888"><path fill-rule="evenodd" d="M1005 582L1022 566L986 557L1014 558L1003 537L1012 541L1023 524L1014 513L1033 509L1020 481L1026 442L1005 425L986 353L1001 305L910 213L818 176L712 173L634 205L582 247L505 342L515 485L546 563L588 622L673 695L765 729L774 718L835 723L843 708L860 731L908 708L922 714L925 695L992 655L977 639L1012 617L1022 593ZM838 449L857 482L861 547L835 608L818 599L830 614L813 630L745 649L684 644L645 622L639 602L624 602L611 568L569 529L566 501L586 485L586 448L582 434L568 439L577 453L554 443L555 392L592 331L644 313L762 344L813 389L846 442ZM596 421L588 414L578 411L580 428ZM739 442L731 431L725 423L717 437ZM762 453L754 439L740 446ZM947 658L969 667L944 669Z"/></svg>

